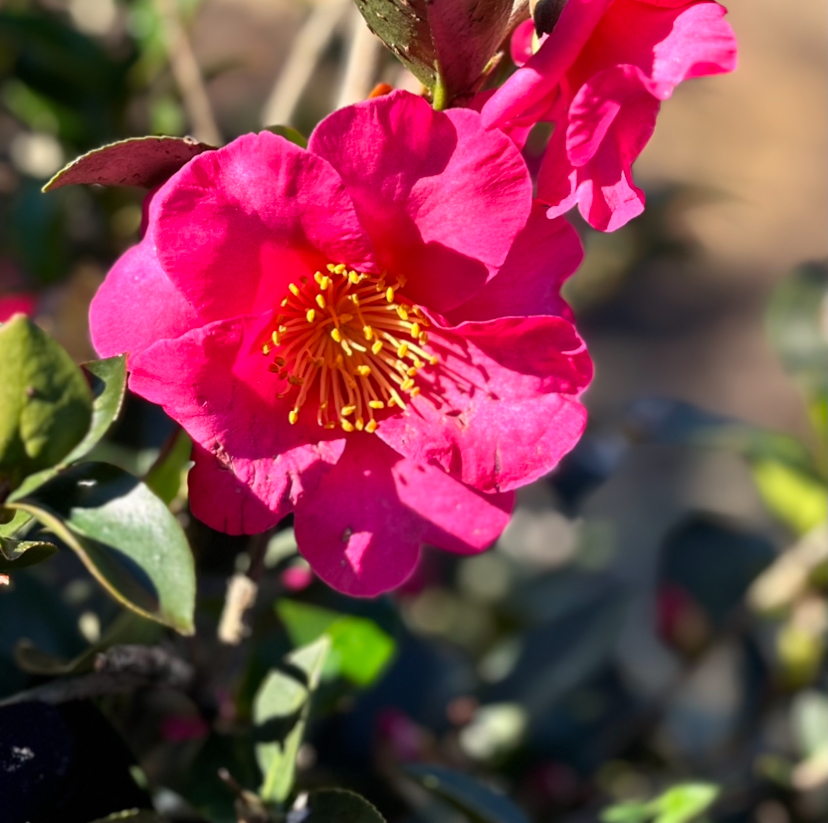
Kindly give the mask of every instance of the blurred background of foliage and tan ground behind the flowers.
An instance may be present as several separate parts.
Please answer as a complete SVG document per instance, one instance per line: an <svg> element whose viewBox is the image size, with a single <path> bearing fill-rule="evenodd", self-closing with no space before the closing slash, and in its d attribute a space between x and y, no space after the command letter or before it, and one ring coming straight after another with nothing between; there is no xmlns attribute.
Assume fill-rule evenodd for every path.
<svg viewBox="0 0 828 823"><path fill-rule="evenodd" d="M95 455L186 528L197 634L123 612L61 551L0 587L0 696L121 644L186 661L186 685L0 707L0 749L51 752L27 770L2 749L11 823L150 798L171 820L255 820L244 790L284 799L286 758L302 791L347 787L389 821L828 819L828 272L807 262L824 257L825 12L732 5L742 67L665 106L638 170L647 212L579 226L567 296L596 359L590 428L490 552L426 551L393 596L340 597L289 523L248 543L192 520L186 438L127 401ZM359 23L337 0L0 5L0 309L23 301L91 357L86 308L142 192L41 186L127 136L307 133L349 102ZM368 48L374 80L417 88ZM249 626L225 625L257 564ZM279 680L290 655L304 680ZM283 750L261 730L286 717Z"/></svg>

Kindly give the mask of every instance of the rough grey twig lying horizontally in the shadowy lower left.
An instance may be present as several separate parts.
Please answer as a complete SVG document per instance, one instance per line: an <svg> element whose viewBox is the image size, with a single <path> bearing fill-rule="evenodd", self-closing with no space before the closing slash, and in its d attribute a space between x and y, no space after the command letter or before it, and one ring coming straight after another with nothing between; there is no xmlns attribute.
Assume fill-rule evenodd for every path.
<svg viewBox="0 0 828 823"><path fill-rule="evenodd" d="M0 706L27 703L66 703L104 694L117 694L142 686L169 686L187 691L195 672L189 663L157 646L112 646L95 658L95 671L44 683L0 701Z"/></svg>

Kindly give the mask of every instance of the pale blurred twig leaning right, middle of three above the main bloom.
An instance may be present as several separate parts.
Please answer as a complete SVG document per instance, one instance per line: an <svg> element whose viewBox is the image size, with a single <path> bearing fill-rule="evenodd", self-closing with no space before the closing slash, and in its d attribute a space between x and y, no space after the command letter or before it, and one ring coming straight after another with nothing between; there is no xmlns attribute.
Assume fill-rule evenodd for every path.
<svg viewBox="0 0 828 823"><path fill-rule="evenodd" d="M351 0L318 0L293 41L293 48L262 109L262 125L290 124L296 106Z"/></svg>

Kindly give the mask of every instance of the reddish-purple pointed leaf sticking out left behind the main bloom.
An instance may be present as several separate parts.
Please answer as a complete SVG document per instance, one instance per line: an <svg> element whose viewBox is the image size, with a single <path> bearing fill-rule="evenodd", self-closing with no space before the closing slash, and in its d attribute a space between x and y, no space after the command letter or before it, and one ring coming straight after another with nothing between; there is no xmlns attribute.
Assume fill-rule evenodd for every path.
<svg viewBox="0 0 828 823"><path fill-rule="evenodd" d="M77 183L151 189L196 155L215 148L192 137L130 137L81 155L62 168L43 191Z"/></svg>

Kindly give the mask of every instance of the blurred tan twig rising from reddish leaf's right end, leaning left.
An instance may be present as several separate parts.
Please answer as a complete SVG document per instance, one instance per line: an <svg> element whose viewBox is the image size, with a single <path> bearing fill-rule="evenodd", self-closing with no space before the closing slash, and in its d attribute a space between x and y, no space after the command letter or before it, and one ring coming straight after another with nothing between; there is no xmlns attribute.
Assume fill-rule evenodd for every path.
<svg viewBox="0 0 828 823"><path fill-rule="evenodd" d="M170 69L181 93L181 101L184 103L193 136L202 143L220 146L223 142L221 133L213 117L201 69L178 15L176 0L156 0L156 3Z"/></svg>

